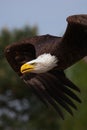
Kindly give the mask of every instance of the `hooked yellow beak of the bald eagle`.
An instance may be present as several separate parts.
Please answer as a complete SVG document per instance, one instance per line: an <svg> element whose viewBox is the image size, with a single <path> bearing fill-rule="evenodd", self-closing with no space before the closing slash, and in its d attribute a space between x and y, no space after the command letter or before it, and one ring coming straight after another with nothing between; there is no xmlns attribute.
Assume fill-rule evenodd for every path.
<svg viewBox="0 0 87 130"><path fill-rule="evenodd" d="M31 72L33 69L34 69L34 65L30 65L30 64L25 63L25 64L23 64L23 65L21 66L20 71L21 71L21 73L23 74L23 73L29 73L29 72Z"/></svg>

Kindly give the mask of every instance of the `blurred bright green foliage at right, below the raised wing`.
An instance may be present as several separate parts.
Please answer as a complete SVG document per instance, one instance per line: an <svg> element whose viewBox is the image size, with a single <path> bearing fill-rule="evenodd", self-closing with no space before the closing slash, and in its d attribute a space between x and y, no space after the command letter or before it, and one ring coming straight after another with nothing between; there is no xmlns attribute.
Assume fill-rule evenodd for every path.
<svg viewBox="0 0 87 130"><path fill-rule="evenodd" d="M77 104L78 111L74 112L74 116L67 116L65 121L60 123L61 130L86 130L87 129L87 63L84 60L76 63L66 70L67 76L81 90L79 95L82 103Z"/></svg>

